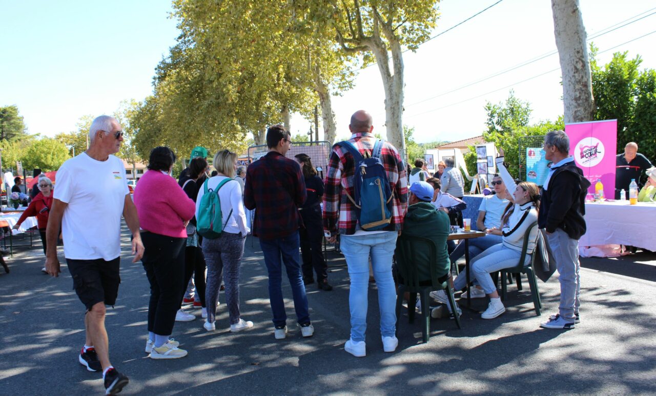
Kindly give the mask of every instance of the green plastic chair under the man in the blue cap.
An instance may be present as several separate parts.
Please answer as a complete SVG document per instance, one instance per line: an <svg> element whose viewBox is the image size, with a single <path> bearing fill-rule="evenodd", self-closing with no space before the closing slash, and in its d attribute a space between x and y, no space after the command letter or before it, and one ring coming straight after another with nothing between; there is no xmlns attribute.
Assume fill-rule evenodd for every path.
<svg viewBox="0 0 656 396"><path fill-rule="evenodd" d="M428 263L419 262L416 253L419 251L428 250ZM451 263L447 263L443 267L438 267L435 263L438 249L435 242L428 238L421 238L419 236L407 236L401 234L396 242L396 271L398 273L398 296L396 297L396 325L398 323L401 313L401 303L403 301L403 294L409 293L408 299L408 319L410 323L415 321L415 303L417 301L417 294L421 297L421 314L422 314L422 333L423 341L428 342L430 338L430 311L429 304L430 292L432 290L445 290L449 296L449 305L453 311L453 317L458 328L460 326L460 315L456 309L455 299L453 292L449 288L448 276ZM419 280L419 269L430 266L430 280ZM439 278L445 278L440 281Z"/></svg>

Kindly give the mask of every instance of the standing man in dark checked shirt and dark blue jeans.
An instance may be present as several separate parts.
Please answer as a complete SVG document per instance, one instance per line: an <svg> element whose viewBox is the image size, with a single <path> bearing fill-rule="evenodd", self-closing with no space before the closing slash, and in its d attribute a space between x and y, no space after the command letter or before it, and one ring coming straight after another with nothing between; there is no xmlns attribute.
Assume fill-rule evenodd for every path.
<svg viewBox="0 0 656 396"><path fill-rule="evenodd" d="M269 301L277 339L285 338L287 334L287 314L281 285L283 263L294 296L301 334L303 337L314 334L298 253L298 227L302 223L298 208L305 202L308 193L300 165L285 158L291 144L289 131L284 127L269 127L266 131L269 152L249 165L244 187L244 206L256 209L253 234L260 239L264 264L269 273Z"/></svg>

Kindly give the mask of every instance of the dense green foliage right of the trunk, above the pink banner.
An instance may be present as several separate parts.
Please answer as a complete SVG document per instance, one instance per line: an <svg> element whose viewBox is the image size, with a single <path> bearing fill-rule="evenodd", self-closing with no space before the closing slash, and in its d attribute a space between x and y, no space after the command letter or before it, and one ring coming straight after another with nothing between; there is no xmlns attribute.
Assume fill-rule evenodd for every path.
<svg viewBox="0 0 656 396"><path fill-rule="evenodd" d="M626 143L636 142L639 151L656 159L656 71L640 70L642 58L615 53L602 68L596 60L597 48L590 45L595 120L617 120L617 152Z"/></svg>

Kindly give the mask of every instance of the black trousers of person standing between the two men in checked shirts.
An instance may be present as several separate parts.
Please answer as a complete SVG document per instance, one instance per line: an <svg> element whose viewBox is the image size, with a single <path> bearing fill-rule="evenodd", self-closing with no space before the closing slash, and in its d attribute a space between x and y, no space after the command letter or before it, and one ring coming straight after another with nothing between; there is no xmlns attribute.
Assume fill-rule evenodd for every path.
<svg viewBox="0 0 656 396"><path fill-rule="evenodd" d="M323 221L321 207L317 204L300 211L305 228L298 229L300 256L303 260L303 278L313 279L312 269L317 273L318 282L327 278L328 266L323 258Z"/></svg>

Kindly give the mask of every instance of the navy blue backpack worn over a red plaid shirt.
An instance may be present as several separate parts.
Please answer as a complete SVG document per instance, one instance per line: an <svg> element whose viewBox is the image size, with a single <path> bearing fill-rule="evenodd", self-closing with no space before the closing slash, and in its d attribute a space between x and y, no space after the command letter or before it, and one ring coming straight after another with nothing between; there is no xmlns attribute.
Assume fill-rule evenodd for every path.
<svg viewBox="0 0 656 396"><path fill-rule="evenodd" d="M355 162L354 196L346 196L356 207L358 223L364 231L384 229L392 221L392 188L385 167L380 160L382 141L378 139L371 157L363 157L358 148L349 141L337 143L348 150ZM365 152L368 156L369 153Z"/></svg>

